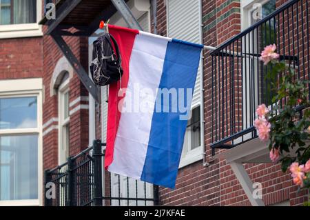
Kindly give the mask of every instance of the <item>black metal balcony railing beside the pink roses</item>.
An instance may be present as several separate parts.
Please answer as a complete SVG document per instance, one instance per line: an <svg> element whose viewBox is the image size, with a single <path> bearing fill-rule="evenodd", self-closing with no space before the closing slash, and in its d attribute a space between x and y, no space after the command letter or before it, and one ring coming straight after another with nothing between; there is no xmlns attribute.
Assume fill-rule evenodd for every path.
<svg viewBox="0 0 310 220"><path fill-rule="evenodd" d="M259 60L265 46L275 43L280 60L309 79L309 1L287 1L247 30L211 52L211 148L234 148L257 137L255 111L260 103L273 108L270 66ZM280 77L280 76L279 76Z"/></svg>

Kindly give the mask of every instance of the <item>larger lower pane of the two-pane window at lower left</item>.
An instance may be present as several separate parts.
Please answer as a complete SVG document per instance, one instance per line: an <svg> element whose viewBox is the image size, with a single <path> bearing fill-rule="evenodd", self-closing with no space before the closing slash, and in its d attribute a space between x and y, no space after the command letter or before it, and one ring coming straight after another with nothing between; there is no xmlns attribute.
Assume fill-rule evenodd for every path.
<svg viewBox="0 0 310 220"><path fill-rule="evenodd" d="M38 136L0 137L0 200L38 199Z"/></svg>

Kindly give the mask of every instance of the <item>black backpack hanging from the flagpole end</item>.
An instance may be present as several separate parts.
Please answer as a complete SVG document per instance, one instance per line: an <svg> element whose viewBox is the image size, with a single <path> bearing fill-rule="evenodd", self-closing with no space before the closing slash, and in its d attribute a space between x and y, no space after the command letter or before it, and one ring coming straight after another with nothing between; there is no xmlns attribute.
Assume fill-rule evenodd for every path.
<svg viewBox="0 0 310 220"><path fill-rule="evenodd" d="M113 50L112 42L116 52ZM94 83L105 86L121 79L122 60L114 37L105 33L94 41L93 46L90 72Z"/></svg>

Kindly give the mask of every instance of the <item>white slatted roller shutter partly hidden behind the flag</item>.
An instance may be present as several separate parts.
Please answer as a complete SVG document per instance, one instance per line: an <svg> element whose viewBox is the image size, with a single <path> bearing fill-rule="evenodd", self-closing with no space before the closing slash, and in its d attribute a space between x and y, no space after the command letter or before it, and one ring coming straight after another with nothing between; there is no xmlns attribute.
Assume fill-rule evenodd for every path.
<svg viewBox="0 0 310 220"><path fill-rule="evenodd" d="M200 32L200 0L167 0L167 34L193 43L201 42ZM192 107L200 103L200 70L195 84Z"/></svg>

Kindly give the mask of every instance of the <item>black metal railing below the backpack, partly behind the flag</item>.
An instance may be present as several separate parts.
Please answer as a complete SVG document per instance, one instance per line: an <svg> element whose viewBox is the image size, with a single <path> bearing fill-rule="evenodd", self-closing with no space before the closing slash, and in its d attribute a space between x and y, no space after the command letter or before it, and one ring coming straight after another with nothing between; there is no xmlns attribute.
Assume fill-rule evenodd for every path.
<svg viewBox="0 0 310 220"><path fill-rule="evenodd" d="M100 140L45 170L45 206L157 206L158 187L103 170Z"/></svg>

